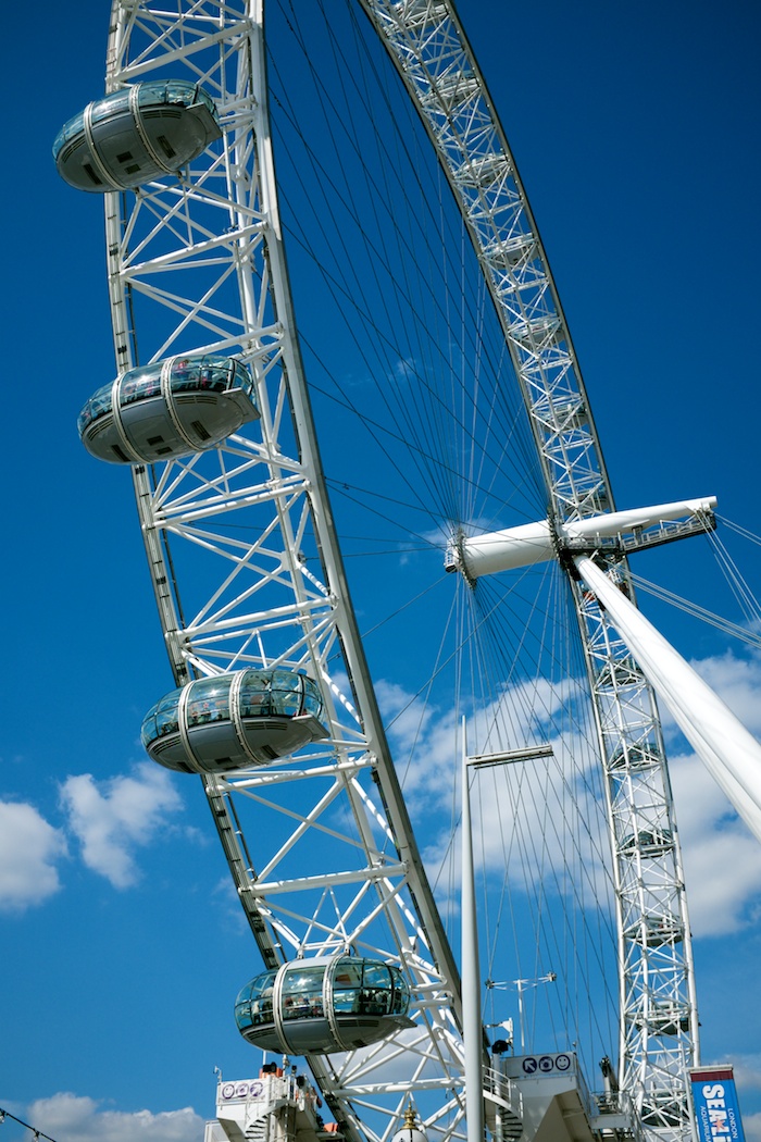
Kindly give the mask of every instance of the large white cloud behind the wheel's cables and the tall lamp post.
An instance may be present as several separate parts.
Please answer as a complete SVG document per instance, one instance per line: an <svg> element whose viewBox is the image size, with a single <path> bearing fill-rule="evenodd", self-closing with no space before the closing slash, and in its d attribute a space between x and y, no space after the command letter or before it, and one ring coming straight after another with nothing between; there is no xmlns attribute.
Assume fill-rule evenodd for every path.
<svg viewBox="0 0 761 1142"><path fill-rule="evenodd" d="M451 910L460 883L459 833L452 837L460 817L460 718L388 682L377 691L411 814L424 821L423 860L440 904ZM534 892L521 871L531 866L544 870L545 896L597 908L610 894L608 838L601 786L598 780L596 789L588 778L593 753L574 732L577 698L573 682L562 687L536 682L507 687L494 702L470 711L470 753L493 753L505 741L552 747L550 757L487 767L473 779L475 856L500 877L516 868L516 892ZM565 732L556 719L565 723Z"/></svg>

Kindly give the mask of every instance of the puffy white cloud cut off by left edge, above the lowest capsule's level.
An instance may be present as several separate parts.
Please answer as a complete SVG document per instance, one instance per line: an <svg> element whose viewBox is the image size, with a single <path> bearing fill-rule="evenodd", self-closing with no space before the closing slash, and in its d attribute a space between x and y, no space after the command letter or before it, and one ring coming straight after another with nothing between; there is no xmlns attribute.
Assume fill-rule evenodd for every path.
<svg viewBox="0 0 761 1142"><path fill-rule="evenodd" d="M0 802L0 910L24 911L60 888L66 842L32 805Z"/></svg>

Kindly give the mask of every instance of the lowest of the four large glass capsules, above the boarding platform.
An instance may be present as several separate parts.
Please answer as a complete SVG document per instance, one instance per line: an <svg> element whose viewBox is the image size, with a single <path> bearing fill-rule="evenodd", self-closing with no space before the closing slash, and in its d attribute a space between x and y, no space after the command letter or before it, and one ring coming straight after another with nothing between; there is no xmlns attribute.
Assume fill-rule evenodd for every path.
<svg viewBox="0 0 761 1142"><path fill-rule="evenodd" d="M257 975L235 1002L235 1021L243 1038L264 1051L325 1054L412 1027L408 1008L398 967L339 954Z"/></svg>

